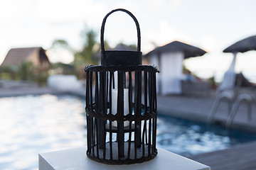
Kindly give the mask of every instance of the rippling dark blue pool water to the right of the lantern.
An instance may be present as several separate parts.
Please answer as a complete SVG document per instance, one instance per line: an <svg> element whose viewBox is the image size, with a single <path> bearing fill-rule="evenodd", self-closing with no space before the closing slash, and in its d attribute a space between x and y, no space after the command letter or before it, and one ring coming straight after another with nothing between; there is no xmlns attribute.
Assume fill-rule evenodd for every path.
<svg viewBox="0 0 256 170"><path fill-rule="evenodd" d="M256 136L222 127L172 118L159 114L157 144L171 152L189 156L226 149L256 140Z"/></svg>

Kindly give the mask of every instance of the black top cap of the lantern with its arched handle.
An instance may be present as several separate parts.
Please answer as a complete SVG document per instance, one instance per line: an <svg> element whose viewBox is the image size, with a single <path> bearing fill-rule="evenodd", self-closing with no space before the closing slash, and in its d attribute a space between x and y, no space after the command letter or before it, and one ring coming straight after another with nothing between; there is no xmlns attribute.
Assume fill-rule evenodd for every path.
<svg viewBox="0 0 256 170"><path fill-rule="evenodd" d="M136 26L137 26L137 37L138 37L138 44L137 44L137 51L120 51L120 50L107 50L105 51L104 47L104 30L105 30L105 23L107 21L107 17L110 16L111 13L116 11L123 11L127 13L129 16L132 17ZM117 8L110 13L107 13L105 18L102 21L102 27L100 31L100 45L101 45L101 64L104 66L110 65L139 65L142 64L142 52L141 50L141 38L140 38L140 29L139 29L139 22L135 16L123 8Z"/></svg>

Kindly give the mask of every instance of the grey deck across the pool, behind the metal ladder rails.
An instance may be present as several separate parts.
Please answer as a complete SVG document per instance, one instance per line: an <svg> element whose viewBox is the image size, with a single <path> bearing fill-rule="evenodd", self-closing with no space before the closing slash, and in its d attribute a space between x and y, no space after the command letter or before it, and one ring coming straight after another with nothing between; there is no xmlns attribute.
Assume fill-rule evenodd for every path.
<svg viewBox="0 0 256 170"><path fill-rule="evenodd" d="M158 96L157 98L160 113L203 123L206 123L214 101L214 94L200 98L192 96ZM228 103L223 101L215 114L213 123L225 125L227 119ZM247 104L241 103L231 128L245 130L247 132L256 132L256 103L252 104L251 120L248 120Z"/></svg>

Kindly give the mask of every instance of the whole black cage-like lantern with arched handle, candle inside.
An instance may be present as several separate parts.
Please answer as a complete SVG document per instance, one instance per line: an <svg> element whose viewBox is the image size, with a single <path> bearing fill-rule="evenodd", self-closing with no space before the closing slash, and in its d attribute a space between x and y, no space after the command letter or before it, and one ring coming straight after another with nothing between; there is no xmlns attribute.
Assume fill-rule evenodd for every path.
<svg viewBox="0 0 256 170"><path fill-rule="evenodd" d="M105 51L107 17L115 11L137 26L137 51ZM156 67L142 65L139 23L119 8L107 13L101 28L100 66L87 66L87 157L105 164L135 164L156 157Z"/></svg>

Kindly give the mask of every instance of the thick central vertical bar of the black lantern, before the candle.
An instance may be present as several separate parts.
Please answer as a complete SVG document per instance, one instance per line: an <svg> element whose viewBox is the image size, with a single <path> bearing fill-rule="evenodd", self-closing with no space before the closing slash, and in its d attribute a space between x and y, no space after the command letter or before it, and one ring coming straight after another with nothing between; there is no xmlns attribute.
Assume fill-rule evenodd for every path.
<svg viewBox="0 0 256 170"><path fill-rule="evenodd" d="M124 115L124 72L118 72L117 115ZM117 122L118 157L124 157L124 121Z"/></svg>

